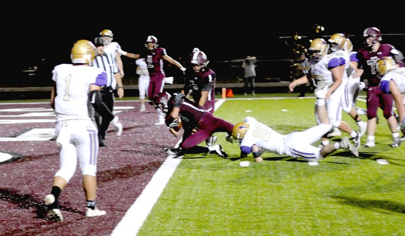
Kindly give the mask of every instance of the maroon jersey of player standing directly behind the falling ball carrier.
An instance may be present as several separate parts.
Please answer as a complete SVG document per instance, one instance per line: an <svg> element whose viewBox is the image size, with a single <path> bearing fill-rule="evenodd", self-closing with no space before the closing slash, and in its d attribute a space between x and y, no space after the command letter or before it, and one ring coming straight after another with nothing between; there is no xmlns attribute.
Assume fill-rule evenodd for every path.
<svg viewBox="0 0 405 236"><path fill-rule="evenodd" d="M193 99L195 103L198 103L201 98L202 91L208 91L207 101L215 101L215 83L216 83L215 72L204 67L198 73L192 73L186 78L186 83L183 90L185 93L192 91ZM211 112L212 113L212 112Z"/></svg>

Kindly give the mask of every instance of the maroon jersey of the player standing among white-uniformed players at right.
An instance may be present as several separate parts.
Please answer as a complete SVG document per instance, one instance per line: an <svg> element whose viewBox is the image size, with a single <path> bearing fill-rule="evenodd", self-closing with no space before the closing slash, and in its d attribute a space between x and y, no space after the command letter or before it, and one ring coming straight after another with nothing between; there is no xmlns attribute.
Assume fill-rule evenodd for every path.
<svg viewBox="0 0 405 236"><path fill-rule="evenodd" d="M376 73L376 63L379 58L391 56L391 50L395 49L392 45L381 44L377 52L370 52L371 48L361 48L357 52L358 66L357 68L363 69L364 72L361 75L361 80L368 80L369 86L374 87L380 84L380 79Z"/></svg>

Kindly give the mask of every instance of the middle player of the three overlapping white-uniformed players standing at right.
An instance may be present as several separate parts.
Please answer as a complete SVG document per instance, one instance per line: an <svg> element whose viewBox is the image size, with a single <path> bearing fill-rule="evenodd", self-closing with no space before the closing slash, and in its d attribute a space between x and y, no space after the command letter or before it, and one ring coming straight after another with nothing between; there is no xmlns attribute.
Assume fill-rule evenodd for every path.
<svg viewBox="0 0 405 236"><path fill-rule="evenodd" d="M353 120L355 120L357 126L359 127L359 133L360 136L364 135L367 130L367 122L362 122L360 117L357 115L357 111L353 108L353 97L354 94L349 94L349 70L350 70L350 64L351 64L351 57L350 54L347 50L344 50L346 42L349 42L345 35L343 33L335 33L333 34L330 39L329 43L331 44L331 51L333 55L337 55L338 57L341 58L341 60L345 61L344 66L341 66L343 69L343 75L342 75L342 84L339 87L339 91L341 93L341 99L340 99L340 107L338 108L338 120L341 121L341 126L339 129L342 129L348 134L353 134L353 129L345 122L342 121L342 109L348 113ZM352 78L353 80L353 78ZM358 85L356 84L356 87L358 88ZM335 92L336 93L336 92ZM355 99L355 98L354 98ZM335 130L338 128L334 127L334 135L333 134L328 134L328 137L333 137L333 136L338 136L341 135L341 132L339 130ZM353 137L353 135L351 135ZM355 137L355 136L354 136ZM358 143L358 145L360 145Z"/></svg>

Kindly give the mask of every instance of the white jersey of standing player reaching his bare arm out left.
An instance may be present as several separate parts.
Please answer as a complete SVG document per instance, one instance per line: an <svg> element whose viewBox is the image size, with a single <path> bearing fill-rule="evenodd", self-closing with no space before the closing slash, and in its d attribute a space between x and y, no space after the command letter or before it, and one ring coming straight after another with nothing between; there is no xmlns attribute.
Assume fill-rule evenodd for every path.
<svg viewBox="0 0 405 236"><path fill-rule="evenodd" d="M323 88L325 86L330 87L333 84L334 81L332 71L330 70L330 61L334 59L340 61L338 56L328 54L314 64L311 62L311 75L317 88Z"/></svg>

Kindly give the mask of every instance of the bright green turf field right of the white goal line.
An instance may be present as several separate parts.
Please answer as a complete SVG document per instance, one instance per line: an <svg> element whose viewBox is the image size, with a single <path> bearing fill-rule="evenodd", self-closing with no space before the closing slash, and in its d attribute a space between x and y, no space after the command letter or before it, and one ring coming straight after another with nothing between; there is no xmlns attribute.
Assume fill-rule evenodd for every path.
<svg viewBox="0 0 405 236"><path fill-rule="evenodd" d="M290 97L228 99L215 115L234 124L253 116L282 134L315 125L315 99ZM405 235L405 146L388 146L385 119L376 147L361 147L359 158L338 150L319 166L272 153L239 159L239 146L217 136L229 160L185 155L138 235Z"/></svg>

